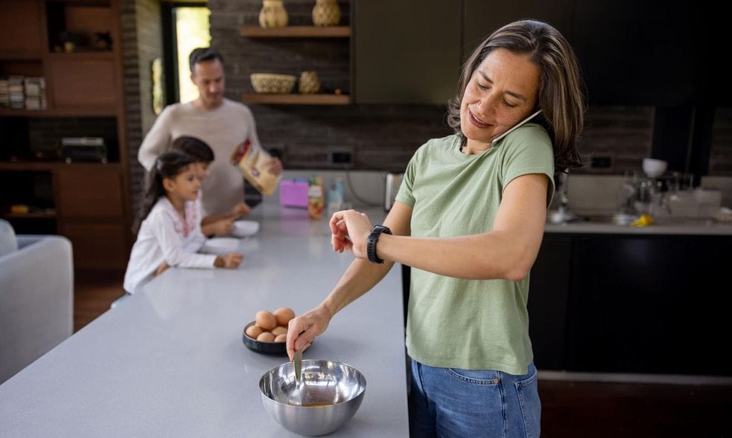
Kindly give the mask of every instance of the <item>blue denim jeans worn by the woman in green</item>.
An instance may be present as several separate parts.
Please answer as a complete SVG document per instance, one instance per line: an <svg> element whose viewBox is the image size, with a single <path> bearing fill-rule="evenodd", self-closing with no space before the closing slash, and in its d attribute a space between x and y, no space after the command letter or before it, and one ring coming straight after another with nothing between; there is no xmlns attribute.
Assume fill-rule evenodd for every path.
<svg viewBox="0 0 732 438"><path fill-rule="evenodd" d="M422 437L539 437L537 369L435 368L412 360L409 432Z"/></svg>

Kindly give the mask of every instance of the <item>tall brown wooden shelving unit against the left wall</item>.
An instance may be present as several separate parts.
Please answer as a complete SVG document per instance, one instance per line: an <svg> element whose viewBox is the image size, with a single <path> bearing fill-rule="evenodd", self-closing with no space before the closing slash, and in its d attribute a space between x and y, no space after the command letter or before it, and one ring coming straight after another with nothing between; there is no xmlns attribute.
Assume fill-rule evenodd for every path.
<svg viewBox="0 0 732 438"><path fill-rule="evenodd" d="M1 0L0 74L45 78L46 110L0 108L0 217L71 240L76 269L120 269L132 245L119 0ZM62 34L112 45L61 51ZM86 44L86 43L82 43ZM48 120L37 120L45 118ZM78 118L79 120L69 120ZM43 139L34 138L43 130ZM102 137L108 163L12 161L62 137ZM41 144L42 142L42 144ZM52 209L25 214L10 205ZM31 231L29 234L38 234ZM103 254L103 257L100 257Z"/></svg>

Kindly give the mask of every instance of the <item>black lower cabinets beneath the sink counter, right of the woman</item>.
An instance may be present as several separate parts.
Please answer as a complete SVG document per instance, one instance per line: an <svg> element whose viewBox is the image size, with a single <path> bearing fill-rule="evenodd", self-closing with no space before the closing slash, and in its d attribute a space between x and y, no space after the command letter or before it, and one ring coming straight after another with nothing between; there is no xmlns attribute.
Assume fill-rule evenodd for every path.
<svg viewBox="0 0 732 438"><path fill-rule="evenodd" d="M529 295L537 367L732 374L716 354L732 333L730 245L728 236L547 234Z"/></svg>

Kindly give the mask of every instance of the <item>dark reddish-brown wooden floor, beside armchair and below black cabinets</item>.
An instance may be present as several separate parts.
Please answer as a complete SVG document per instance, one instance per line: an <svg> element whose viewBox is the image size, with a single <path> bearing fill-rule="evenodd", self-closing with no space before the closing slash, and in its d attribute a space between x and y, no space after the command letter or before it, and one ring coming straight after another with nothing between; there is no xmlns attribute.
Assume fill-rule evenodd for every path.
<svg viewBox="0 0 732 438"><path fill-rule="evenodd" d="M123 277L76 274L74 331L122 296ZM732 438L732 385L539 380L539 395L542 437Z"/></svg>

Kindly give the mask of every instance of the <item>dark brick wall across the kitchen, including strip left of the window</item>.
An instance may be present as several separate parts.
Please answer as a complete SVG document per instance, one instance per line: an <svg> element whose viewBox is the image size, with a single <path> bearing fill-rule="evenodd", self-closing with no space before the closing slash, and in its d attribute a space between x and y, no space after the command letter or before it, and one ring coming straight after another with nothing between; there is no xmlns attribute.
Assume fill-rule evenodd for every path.
<svg viewBox="0 0 732 438"><path fill-rule="evenodd" d="M341 24L349 24L350 1L338 1ZM314 0L288 0L285 9L292 26L310 25ZM261 0L209 0L212 47L225 58L226 96L239 101L252 93L250 74L274 72L299 75L315 70L325 91L351 92L351 43L348 39L250 39L241 26L258 26ZM149 61L162 52L160 9L155 0L123 2L125 17L136 24L123 27L125 84L128 94L128 136L132 199L137 208L142 169L137 150L154 116L146 113L150 89ZM156 16L157 15L157 16ZM129 47L128 47L129 45ZM445 107L433 105L302 106L250 104L259 137L265 147L278 150L288 169L337 169L334 152L351 153L353 169L400 171L427 139L452 134L445 122ZM132 114L137 112L138 115ZM141 115L142 113L142 115ZM590 107L580 139L587 165L578 174L623 174L640 170L651 154L654 107ZM732 110L718 110L709 174L732 174ZM591 166L592 158L608 166ZM600 160L599 158L608 158ZM136 210L134 210L136 211Z"/></svg>

